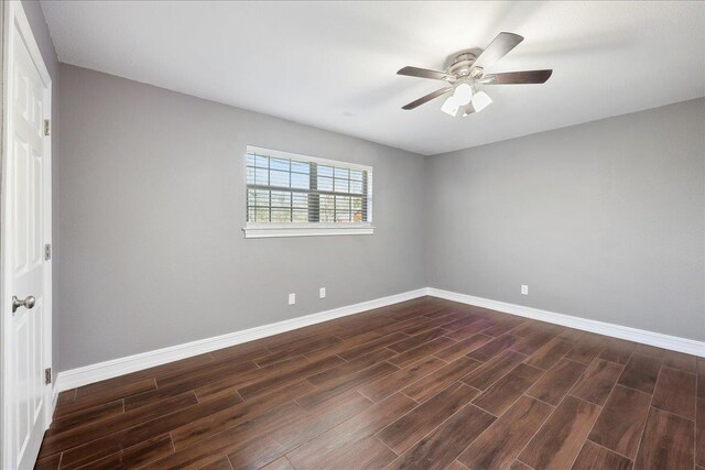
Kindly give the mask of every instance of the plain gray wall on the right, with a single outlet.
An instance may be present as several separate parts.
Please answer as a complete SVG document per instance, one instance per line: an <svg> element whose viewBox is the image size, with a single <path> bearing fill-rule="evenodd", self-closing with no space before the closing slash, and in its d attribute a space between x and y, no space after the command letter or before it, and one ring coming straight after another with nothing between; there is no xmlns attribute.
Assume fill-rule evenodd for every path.
<svg viewBox="0 0 705 470"><path fill-rule="evenodd" d="M433 156L429 177L431 286L705 339L705 99Z"/></svg>

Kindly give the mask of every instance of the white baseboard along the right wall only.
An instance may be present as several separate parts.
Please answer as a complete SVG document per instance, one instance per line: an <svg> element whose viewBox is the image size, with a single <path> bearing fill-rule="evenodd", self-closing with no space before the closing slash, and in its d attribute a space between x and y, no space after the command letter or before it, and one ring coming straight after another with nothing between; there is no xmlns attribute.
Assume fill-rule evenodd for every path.
<svg viewBox="0 0 705 470"><path fill-rule="evenodd" d="M435 287L429 287L427 295L705 358L704 341L662 335L659 332L608 324L605 321L589 320L587 318L574 317L571 315L556 314L555 311L524 307L522 305L476 297L474 295L458 294Z"/></svg>

